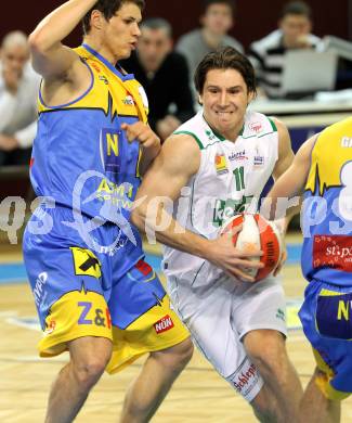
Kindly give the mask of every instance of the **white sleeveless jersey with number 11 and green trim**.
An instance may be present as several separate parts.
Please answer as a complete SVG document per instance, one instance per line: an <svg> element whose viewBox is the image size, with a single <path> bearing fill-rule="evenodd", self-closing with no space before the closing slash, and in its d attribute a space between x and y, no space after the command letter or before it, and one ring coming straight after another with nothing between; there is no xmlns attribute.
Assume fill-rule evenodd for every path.
<svg viewBox="0 0 352 423"><path fill-rule="evenodd" d="M211 129L199 111L174 133L186 133L196 140L200 166L182 189L173 217L187 230L216 239L226 219L258 209L258 200L278 156L276 126L265 115L248 111L244 127L233 142ZM199 257L165 247L167 275L193 272L203 261Z"/></svg>

